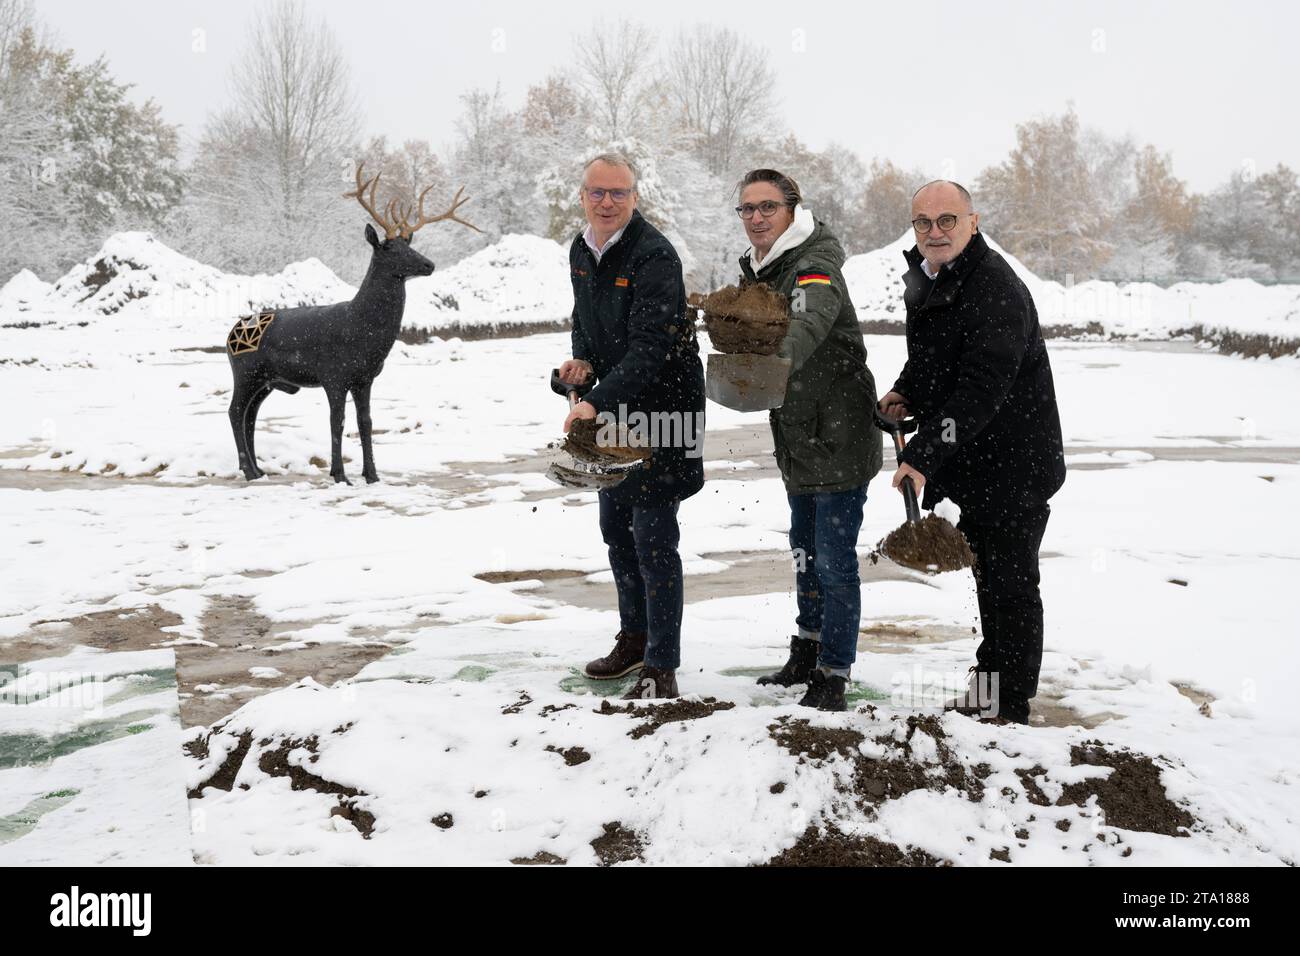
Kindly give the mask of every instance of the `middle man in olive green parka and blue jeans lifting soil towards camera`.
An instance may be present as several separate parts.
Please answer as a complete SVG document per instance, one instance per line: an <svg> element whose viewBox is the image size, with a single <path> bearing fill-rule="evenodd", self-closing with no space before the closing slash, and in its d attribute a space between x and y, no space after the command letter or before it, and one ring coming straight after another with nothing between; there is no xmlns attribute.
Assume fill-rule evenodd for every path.
<svg viewBox="0 0 1300 956"><path fill-rule="evenodd" d="M779 352L790 360L790 378L771 425L790 503L798 633L785 665L759 683L806 683L801 704L844 710L862 614L858 531L867 483L883 458L872 425L876 384L840 272L840 241L803 207L790 177L755 169L740 186L736 212L751 243L740 260L741 281L762 282L790 302Z"/></svg>

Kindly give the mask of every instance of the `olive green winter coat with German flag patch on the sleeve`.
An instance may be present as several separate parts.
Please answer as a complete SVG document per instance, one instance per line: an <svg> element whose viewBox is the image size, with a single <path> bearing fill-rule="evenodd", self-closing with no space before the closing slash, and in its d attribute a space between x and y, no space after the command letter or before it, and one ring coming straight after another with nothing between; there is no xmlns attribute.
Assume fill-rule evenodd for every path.
<svg viewBox="0 0 1300 956"><path fill-rule="evenodd" d="M875 477L883 436L872 424L876 382L849 287L844 247L824 222L758 274L741 258L742 282L758 281L790 299L780 355L790 359L785 401L771 411L776 463L789 494L842 492Z"/></svg>

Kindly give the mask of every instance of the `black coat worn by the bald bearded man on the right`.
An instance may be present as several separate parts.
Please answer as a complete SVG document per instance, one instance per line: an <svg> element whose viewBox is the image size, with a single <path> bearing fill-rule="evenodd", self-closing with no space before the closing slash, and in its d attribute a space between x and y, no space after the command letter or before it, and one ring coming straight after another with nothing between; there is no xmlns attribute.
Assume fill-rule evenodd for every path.
<svg viewBox="0 0 1300 956"><path fill-rule="evenodd" d="M920 419L900 460L926 507L952 498L976 522L1046 502L1065 483L1056 386L1024 282L979 233L939 278L905 254L907 363L894 382Z"/></svg>

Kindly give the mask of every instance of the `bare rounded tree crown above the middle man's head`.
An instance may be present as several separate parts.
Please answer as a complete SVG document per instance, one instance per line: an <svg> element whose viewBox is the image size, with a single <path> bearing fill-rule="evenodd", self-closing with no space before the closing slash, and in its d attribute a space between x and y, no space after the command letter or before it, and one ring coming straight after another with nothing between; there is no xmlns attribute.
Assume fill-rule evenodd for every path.
<svg viewBox="0 0 1300 956"><path fill-rule="evenodd" d="M776 81L763 51L734 30L697 23L677 34L660 72L705 166L733 172L738 147L772 111Z"/></svg>

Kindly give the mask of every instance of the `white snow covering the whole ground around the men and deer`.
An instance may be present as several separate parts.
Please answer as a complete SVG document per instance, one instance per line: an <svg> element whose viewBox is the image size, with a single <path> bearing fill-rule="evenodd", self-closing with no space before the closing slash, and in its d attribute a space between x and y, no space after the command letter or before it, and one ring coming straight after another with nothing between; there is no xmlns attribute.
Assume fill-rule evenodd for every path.
<svg viewBox="0 0 1300 956"><path fill-rule="evenodd" d="M563 250L519 238L421 281L445 278L437 287L459 290L474 321L543 316L568 289ZM896 276L894 259L850 260L855 298ZM99 260L114 277L91 290ZM528 287L542 272L550 285ZM1268 317L1262 287L1221 286L1175 286L1161 300L1210 310L1222 295L1226 310L1236 297L1240 328ZM268 399L257 447L269 477L238 477L226 359L181 349L220 345L254 294L287 303L344 293L318 263L231 277L142 233L114 237L48 287L26 273L0 293L0 325L49 323L0 328L10 408L0 522L12 542L0 559L0 754L107 728L42 765L0 763L0 862L503 864L546 851L582 865L614 821L637 831L646 862L759 862L832 821L962 865L996 865L989 855L1002 848L1015 864L1300 860L1300 661L1287 601L1300 561L1300 360L1186 342L1049 345L1071 471L1043 544L1040 698L1070 722L944 717L946 747L966 766L989 765L984 796L918 790L872 817L846 805L844 758L801 762L768 728L783 718L855 728L863 753L883 754L915 692L959 682L972 661L968 574L864 581L854 680L874 710L811 714L794 691L759 687L753 675L784 659L793 581L745 562L784 559L788 505L766 418L710 405L708 481L681 509L679 680L686 695L736 706L632 737L634 715L597 713L597 692L614 688L577 672L618 630L595 497L552 494L542 476L564 415L547 376L567 334L398 343L374 385L380 484L360 480L351 412L343 449L356 484L335 485L312 463L329 449L318 390ZM412 284L412 302L417 293ZM867 345L883 390L904 341ZM863 553L902 516L887 479L871 485ZM569 576L478 576L528 571ZM248 657L233 679L188 691L256 696L214 726L182 730L176 661L195 643L217 644L208 615L234 600L270 627L240 637ZM77 615L150 605L179 623L148 649L18 656L32 636L70 643ZM888 636L909 628L931 637ZM294 678L295 653L367 641L381 656L348 676ZM62 688L46 700L51 675L75 672L96 675L98 698L61 706L77 704ZM235 786L186 801L244 731L254 749ZM207 757L182 750L204 740ZM332 816L335 795L292 790L263 769L260 754L286 740L298 741L291 765L361 791L369 839ZM1071 765L1084 740L1158 756L1170 797L1199 821L1192 835L1119 831L1095 805L1001 796L1020 786L1018 770L1043 767L1049 796L1100 773ZM937 753L928 734L913 743ZM590 760L569 765L547 747L581 747ZM452 826L432 823L445 813Z"/></svg>

